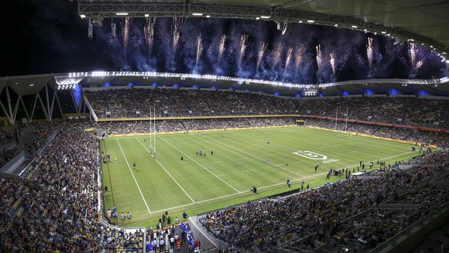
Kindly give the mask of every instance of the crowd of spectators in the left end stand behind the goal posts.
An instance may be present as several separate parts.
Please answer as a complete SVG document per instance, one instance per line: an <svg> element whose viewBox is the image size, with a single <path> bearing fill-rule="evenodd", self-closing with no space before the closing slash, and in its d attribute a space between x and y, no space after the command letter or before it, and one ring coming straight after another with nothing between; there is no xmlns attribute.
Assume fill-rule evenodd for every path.
<svg viewBox="0 0 449 253"><path fill-rule="evenodd" d="M0 251L98 252L130 244L142 248L143 241L135 235L96 222L97 152L95 138L66 125L25 178L1 178Z"/></svg>

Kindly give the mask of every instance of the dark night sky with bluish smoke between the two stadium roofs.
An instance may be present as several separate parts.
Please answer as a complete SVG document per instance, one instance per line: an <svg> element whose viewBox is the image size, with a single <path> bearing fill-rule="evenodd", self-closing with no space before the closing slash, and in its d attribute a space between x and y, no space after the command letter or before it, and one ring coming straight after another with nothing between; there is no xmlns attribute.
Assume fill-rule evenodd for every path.
<svg viewBox="0 0 449 253"><path fill-rule="evenodd" d="M88 39L88 21L77 15L77 3L66 0L1 1L0 76L65 73L82 71L159 71L228 75L316 83L373 78L443 77L446 64L425 48L418 47L417 60L423 66L413 75L408 44L394 46L393 39L353 30L293 24L287 35L276 30L271 21L247 21L191 18L184 21L178 50L173 54L171 18L155 23L153 50L149 53L144 40L142 19L131 20L126 53L124 51L123 18L115 18L117 38L112 39L111 19L103 27L94 27ZM195 64L195 39L202 34L203 53ZM227 35L225 53L218 65L220 37ZM241 35L249 35L247 49L238 63ZM374 61L367 62L367 37L374 41ZM268 44L256 72L260 41ZM274 50L281 43L280 62L274 66ZM322 67L317 71L315 46L320 44ZM294 56L285 68L288 48L303 48L302 61L296 71ZM329 54L336 55L336 75L332 74Z"/></svg>

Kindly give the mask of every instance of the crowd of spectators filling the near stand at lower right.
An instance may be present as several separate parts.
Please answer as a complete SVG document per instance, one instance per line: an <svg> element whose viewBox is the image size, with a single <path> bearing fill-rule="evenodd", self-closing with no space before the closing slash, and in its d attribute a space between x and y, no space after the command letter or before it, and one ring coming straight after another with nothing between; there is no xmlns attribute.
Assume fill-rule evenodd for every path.
<svg viewBox="0 0 449 253"><path fill-rule="evenodd" d="M428 155L429 158L422 158L420 162L426 164L429 160L437 162L432 167L389 171L373 177L351 177L300 194L229 207L207 214L202 223L213 236L229 243L231 251L235 252L254 251L255 247L269 252L271 247L292 241L296 242L294 251L317 250L326 247L329 242L334 243L334 247L343 243L350 250L355 250L345 239L364 244L369 241L364 247L373 248L448 201L446 187L435 191L428 186L424 191L408 191L403 196L397 194L411 185L448 176L448 155L449 150L446 149L439 154ZM428 194L430 191L432 194ZM381 209L381 203L391 199L406 203L410 199L407 196L411 195L414 196L414 203L425 203L422 212L417 209L410 213L403 210L391 213ZM370 213L382 216L372 219ZM385 218L382 218L383 215ZM354 217L350 222L352 226L347 229L344 225L351 217ZM335 240L335 236L339 241Z"/></svg>

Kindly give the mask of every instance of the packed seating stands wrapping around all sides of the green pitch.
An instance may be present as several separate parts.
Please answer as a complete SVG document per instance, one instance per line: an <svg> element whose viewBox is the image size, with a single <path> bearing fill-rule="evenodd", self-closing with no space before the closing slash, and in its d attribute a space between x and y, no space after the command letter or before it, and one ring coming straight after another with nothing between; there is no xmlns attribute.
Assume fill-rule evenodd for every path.
<svg viewBox="0 0 449 253"><path fill-rule="evenodd" d="M352 116L350 114L353 119L398 123L397 119L402 118L401 124L440 128L447 126L444 117L448 102L443 100L398 98L392 101L379 97L366 98L370 100L367 103L358 98L307 100L307 104L316 106L314 107L306 106L303 100L284 100L246 93L164 89L125 91L124 95L114 90L89 92L88 97L95 111L103 113L101 115L104 118L108 110L112 112L113 117L132 117L135 110L142 110L142 116L148 116L149 112L145 111L145 108L148 107L146 103L152 103L149 102L151 99L160 100L157 103L164 111L157 111L159 115L280 115L260 118L157 120L158 132L292 125L298 117L282 114L304 113L331 117L336 104L358 108ZM174 95L169 95L169 92ZM181 99L183 95L189 96L189 100ZM145 98L146 96L149 98ZM164 99L156 99L156 96ZM188 107L185 107L186 101L189 101ZM372 103L383 103L384 106L377 108L376 115L370 118L373 110L369 107L374 106ZM398 103L408 106L398 109ZM428 111L429 118L409 110L418 103ZM312 127L431 143L439 147L448 147L449 144L448 134L436 131L354 122L348 122L346 126L345 122L335 124L333 120L317 118L304 120L307 126ZM149 132L149 122L145 120L102 121L94 124L81 120L23 125L19 129L20 136L32 140L23 144L23 147L36 159L23 178L1 178L2 251L142 252L143 247L148 246L145 241L151 242L154 248L160 245L161 240L168 245L167 242L174 237L171 227L158 227L154 231L149 227L146 233L135 231L130 234L124 229L97 223L97 181L101 173L98 171L97 139L83 130L88 127L102 129L108 134ZM3 132L7 134L2 138L2 143L15 138L7 130ZM56 136L54 140L48 138L50 135ZM46 149L39 150L45 147L47 142L50 144ZM3 150L1 162L8 162L15 152L15 149ZM211 236L229 244L228 252L263 252L274 247L316 252L332 251L335 247L379 250L405 229L409 231L411 226L417 225L423 218L446 205L446 185L441 186L434 182L436 179L448 178L448 155L448 149L444 149L400 162L401 165L413 165L408 170L386 169L359 177L352 176L354 171L347 169L342 172L343 177L340 172L331 171L329 176L347 180L299 194L265 198L228 207L202 216L200 222ZM407 208L403 208L404 206ZM111 218L110 221L113 222L112 217L107 218ZM379 227L383 229L379 230ZM182 228L175 228L174 231L182 233L179 229ZM185 245L184 250L188 251L189 247Z"/></svg>

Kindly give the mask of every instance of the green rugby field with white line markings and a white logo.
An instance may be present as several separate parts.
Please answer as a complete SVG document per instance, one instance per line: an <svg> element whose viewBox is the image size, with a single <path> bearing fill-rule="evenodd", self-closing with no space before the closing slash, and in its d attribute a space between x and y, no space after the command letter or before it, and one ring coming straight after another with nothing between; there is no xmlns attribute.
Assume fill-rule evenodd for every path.
<svg viewBox="0 0 449 253"><path fill-rule="evenodd" d="M373 161L377 168L378 159L394 164L417 156L411 147L320 129L283 127L157 135L154 159L149 135L106 138L100 141L101 150L111 155L102 164L103 185L109 189L104 203L106 210L117 206L119 216L130 212L133 221L126 225L147 226L165 211L174 221L183 211L193 215L243 203L298 189L301 181L316 187L344 178L325 180L329 168L357 171L360 161ZM197 154L200 150L206 156ZM287 179L292 181L291 189ZM253 185L257 196L249 191Z"/></svg>

